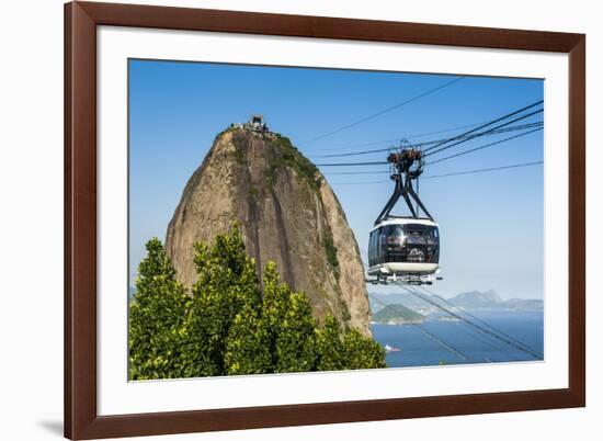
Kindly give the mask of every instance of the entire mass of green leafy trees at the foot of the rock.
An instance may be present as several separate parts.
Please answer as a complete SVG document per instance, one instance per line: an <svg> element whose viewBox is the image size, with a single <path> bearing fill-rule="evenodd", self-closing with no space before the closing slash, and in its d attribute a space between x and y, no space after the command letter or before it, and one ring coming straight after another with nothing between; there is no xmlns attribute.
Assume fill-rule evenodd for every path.
<svg viewBox="0 0 603 441"><path fill-rule="evenodd" d="M269 262L260 284L239 230L196 244L186 293L158 239L147 244L130 304L133 380L384 368L373 339L327 316L319 326L303 292Z"/></svg>

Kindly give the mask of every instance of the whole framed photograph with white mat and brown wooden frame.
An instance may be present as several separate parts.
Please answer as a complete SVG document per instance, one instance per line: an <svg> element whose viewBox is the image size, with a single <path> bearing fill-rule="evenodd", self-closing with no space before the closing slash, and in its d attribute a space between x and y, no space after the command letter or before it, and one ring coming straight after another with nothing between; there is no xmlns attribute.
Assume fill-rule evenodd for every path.
<svg viewBox="0 0 603 441"><path fill-rule="evenodd" d="M585 405L585 36L65 5L65 436Z"/></svg>

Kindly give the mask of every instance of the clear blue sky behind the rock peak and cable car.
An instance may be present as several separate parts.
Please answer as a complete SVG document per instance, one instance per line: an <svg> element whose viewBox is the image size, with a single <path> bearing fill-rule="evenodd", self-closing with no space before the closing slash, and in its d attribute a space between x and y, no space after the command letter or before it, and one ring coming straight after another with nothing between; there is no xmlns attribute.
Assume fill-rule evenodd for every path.
<svg viewBox="0 0 603 441"><path fill-rule="evenodd" d="M468 77L378 117L316 142L351 122L450 82L455 76L261 66L129 61L130 278L145 242L166 237L184 184L217 133L252 113L289 137L316 163L379 161L386 154L349 158L318 155L385 148L390 139L419 143L458 134L451 127L487 122L543 99L539 79ZM542 114L522 123L542 121ZM520 123L517 123L520 124ZM478 138L463 151L513 134ZM359 144L378 143L366 147ZM444 154L436 157L443 157ZM424 177L543 160L543 133L426 167ZM383 174L331 174L380 171ZM389 197L386 166L322 167L361 251ZM376 182L378 181L378 182ZM376 182L376 183L375 183ZM544 294L543 166L422 179L420 195L442 235L442 295L494 289L503 298ZM405 214L399 203L394 214ZM365 258L365 256L363 256ZM133 279L130 279L130 284ZM388 291L388 290L386 290Z"/></svg>

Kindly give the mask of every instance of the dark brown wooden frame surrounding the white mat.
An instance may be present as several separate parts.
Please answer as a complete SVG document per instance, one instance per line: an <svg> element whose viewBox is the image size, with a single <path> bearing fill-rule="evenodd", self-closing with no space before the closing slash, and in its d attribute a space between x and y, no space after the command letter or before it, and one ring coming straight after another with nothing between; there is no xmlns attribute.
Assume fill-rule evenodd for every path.
<svg viewBox="0 0 603 441"><path fill-rule="evenodd" d="M98 416L96 26L135 26L569 54L569 387ZM91 439L585 405L585 36L557 32L72 2L65 5L65 436ZM576 250L579 250L577 252Z"/></svg>

